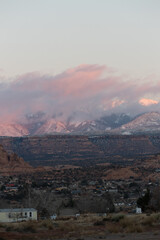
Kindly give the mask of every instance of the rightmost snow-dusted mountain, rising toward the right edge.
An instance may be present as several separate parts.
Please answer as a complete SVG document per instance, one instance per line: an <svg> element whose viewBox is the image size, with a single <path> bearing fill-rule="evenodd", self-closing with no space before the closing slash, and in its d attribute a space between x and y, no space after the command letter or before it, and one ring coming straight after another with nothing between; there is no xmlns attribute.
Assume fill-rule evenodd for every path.
<svg viewBox="0 0 160 240"><path fill-rule="evenodd" d="M160 132L160 113L149 112L112 131L119 134L158 133Z"/></svg>

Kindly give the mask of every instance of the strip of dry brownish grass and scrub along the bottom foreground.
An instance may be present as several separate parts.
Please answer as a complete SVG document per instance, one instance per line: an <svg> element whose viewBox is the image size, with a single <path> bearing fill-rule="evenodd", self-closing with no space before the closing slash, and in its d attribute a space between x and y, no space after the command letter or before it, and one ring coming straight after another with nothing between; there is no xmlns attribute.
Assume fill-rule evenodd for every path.
<svg viewBox="0 0 160 240"><path fill-rule="evenodd" d="M72 238L84 236L105 236L107 233L141 233L145 231L153 231L155 235L160 226L160 214L141 215L124 215L112 214L107 217L99 217L95 215L81 215L78 219L68 220L50 220L28 221L21 223L2 224L1 231L9 234L19 233L25 239L25 234L31 236L32 239L48 239L54 238ZM15 238L16 239L16 238ZM17 238L18 239L18 238ZM28 240L27 239L27 240Z"/></svg>

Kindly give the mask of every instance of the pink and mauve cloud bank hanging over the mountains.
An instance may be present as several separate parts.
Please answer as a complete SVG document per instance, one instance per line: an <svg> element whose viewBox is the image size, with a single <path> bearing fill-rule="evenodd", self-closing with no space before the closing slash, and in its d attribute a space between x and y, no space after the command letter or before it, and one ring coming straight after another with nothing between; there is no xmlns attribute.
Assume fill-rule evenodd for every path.
<svg viewBox="0 0 160 240"><path fill-rule="evenodd" d="M0 83L0 121L24 121L37 112L67 121L158 111L160 81L152 80L130 79L100 65L80 65L56 76L26 73Z"/></svg>

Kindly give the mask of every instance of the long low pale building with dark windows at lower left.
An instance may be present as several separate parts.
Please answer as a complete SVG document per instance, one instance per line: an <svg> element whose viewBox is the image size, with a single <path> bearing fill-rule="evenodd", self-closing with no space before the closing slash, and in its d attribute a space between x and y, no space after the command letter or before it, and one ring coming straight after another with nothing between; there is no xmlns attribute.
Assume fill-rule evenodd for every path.
<svg viewBox="0 0 160 240"><path fill-rule="evenodd" d="M0 209L0 222L20 222L37 220L37 210L34 208Z"/></svg>

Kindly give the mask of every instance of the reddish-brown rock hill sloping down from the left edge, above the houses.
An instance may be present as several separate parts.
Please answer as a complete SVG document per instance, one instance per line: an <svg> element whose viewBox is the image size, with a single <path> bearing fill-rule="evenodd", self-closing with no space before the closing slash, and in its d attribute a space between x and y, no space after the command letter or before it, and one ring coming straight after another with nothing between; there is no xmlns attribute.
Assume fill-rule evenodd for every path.
<svg viewBox="0 0 160 240"><path fill-rule="evenodd" d="M0 145L0 174L12 175L16 173L30 173L32 167L26 163L23 158L18 157L17 154L8 154L2 145Z"/></svg>

